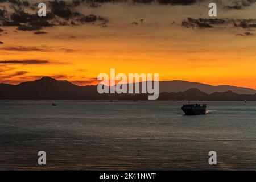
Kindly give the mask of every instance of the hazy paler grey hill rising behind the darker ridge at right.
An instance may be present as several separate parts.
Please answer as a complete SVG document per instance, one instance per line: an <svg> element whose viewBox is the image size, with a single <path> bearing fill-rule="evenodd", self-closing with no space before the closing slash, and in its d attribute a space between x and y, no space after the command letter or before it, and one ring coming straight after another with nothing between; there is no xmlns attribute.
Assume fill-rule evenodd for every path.
<svg viewBox="0 0 256 182"><path fill-rule="evenodd" d="M226 92L228 90L237 93L237 94L255 94L256 90L250 88L229 86L229 85L220 85L213 86L207 84L201 84L197 82L189 82L189 81L160 81L159 82L159 90L160 92L183 92L185 90L196 88L207 94L212 94L214 92Z"/></svg>

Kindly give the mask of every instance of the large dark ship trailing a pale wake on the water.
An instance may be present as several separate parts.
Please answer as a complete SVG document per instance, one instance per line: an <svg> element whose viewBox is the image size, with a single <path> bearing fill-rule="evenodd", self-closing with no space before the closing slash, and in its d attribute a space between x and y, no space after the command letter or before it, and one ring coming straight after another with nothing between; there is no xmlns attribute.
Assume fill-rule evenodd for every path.
<svg viewBox="0 0 256 182"><path fill-rule="evenodd" d="M206 113L206 104L184 104L181 109L184 111L185 115L199 115Z"/></svg>

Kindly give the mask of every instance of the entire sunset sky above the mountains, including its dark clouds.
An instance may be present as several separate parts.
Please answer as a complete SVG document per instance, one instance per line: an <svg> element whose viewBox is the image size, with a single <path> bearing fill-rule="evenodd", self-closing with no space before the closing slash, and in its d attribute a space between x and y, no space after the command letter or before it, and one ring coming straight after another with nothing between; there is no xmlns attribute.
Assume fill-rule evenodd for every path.
<svg viewBox="0 0 256 182"><path fill-rule="evenodd" d="M51 0L46 18L39 2L0 0L0 82L90 85L115 68L256 89L256 1Z"/></svg>

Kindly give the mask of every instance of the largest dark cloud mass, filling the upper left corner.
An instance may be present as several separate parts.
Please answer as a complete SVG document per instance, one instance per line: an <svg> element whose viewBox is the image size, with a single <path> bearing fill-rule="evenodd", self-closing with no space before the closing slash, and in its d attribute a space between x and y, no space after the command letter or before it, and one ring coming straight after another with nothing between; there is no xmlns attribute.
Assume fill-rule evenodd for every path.
<svg viewBox="0 0 256 182"><path fill-rule="evenodd" d="M5 10L0 11L0 24L2 26L17 27L17 30L20 31L39 31L44 27L78 26L95 22L101 27L107 27L107 23L109 23L109 20L102 16L94 14L84 15L79 11L76 11L74 7L81 3L88 2L84 0L73 0L68 2L63 0L48 1L47 6L49 6L50 11L47 12L46 17L39 17L35 6L30 5L28 1L0 0L0 3L1 2L11 3L11 12L6 16ZM34 13L28 13L30 12L28 9L34 11ZM1 16L4 18L1 19Z"/></svg>

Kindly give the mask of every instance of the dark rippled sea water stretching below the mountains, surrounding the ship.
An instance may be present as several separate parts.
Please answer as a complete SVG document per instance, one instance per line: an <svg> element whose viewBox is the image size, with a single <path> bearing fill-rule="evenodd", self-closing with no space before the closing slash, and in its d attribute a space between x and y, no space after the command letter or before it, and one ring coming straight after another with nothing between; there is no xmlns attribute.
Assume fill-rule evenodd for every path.
<svg viewBox="0 0 256 182"><path fill-rule="evenodd" d="M256 102L51 102L0 101L0 169L256 170Z"/></svg>

